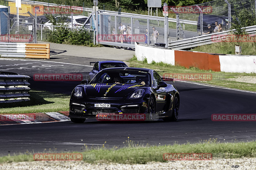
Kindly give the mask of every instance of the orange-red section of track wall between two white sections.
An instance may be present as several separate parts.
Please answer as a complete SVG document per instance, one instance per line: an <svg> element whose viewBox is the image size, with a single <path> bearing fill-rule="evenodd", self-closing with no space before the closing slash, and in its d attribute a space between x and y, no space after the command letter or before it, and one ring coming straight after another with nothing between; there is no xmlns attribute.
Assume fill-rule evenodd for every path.
<svg viewBox="0 0 256 170"><path fill-rule="evenodd" d="M196 67L202 70L220 71L219 55L192 51L174 51L175 65Z"/></svg>

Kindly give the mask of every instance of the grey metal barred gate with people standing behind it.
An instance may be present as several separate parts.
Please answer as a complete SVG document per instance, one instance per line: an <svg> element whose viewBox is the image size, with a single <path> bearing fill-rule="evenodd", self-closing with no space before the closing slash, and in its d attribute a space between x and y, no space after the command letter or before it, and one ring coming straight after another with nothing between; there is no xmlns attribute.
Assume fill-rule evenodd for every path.
<svg viewBox="0 0 256 170"><path fill-rule="evenodd" d="M99 43L134 48L164 43L164 19L100 13Z"/></svg>

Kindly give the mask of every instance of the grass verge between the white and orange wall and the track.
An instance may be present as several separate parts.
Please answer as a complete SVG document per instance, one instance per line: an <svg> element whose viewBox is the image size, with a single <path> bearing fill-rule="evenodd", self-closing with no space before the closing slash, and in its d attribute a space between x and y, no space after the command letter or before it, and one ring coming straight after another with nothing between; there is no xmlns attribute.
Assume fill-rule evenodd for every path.
<svg viewBox="0 0 256 170"><path fill-rule="evenodd" d="M250 76L256 79L256 74L254 73L226 73L226 72L216 72L211 70L200 70L195 67L189 69L182 66L173 66L163 62L156 63L152 62L147 63L147 60L137 61L137 58L133 56L129 62L129 67L140 67L140 68L149 68L156 70L160 76L163 76L164 73L210 73L212 74L212 80L209 81L195 81L200 83L207 83L210 85L218 85L228 88L235 88L241 90L256 91L256 85L253 83L237 82L231 81L229 78L246 78L245 76Z"/></svg>

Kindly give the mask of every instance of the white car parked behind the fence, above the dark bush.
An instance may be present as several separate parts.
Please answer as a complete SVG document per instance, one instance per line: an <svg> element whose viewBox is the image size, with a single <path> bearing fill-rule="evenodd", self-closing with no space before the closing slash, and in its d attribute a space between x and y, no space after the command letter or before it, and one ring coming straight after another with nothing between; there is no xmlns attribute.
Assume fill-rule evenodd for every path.
<svg viewBox="0 0 256 170"><path fill-rule="evenodd" d="M74 15L73 16L73 26L72 26L72 22L71 22L71 16L57 16L55 17L55 20L57 23L62 22L64 25L66 25L67 27L78 27L78 28L82 28L84 22L86 21L88 17L83 16L83 15ZM54 26L52 26L51 21L48 21L44 24L43 26L44 28L48 28L49 30L53 30ZM86 23L86 25L84 26L84 28L90 28L90 20Z"/></svg>

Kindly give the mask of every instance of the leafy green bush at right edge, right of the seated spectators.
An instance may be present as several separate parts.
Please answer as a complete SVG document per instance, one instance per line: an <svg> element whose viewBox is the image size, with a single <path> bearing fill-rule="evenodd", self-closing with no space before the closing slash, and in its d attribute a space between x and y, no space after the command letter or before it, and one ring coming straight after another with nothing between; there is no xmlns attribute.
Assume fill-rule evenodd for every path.
<svg viewBox="0 0 256 170"><path fill-rule="evenodd" d="M246 34L245 29L241 29L242 27L256 25L254 13L248 12L248 9L245 8L237 10L232 18L231 29L236 29L236 31L233 32L233 34L236 35Z"/></svg>

